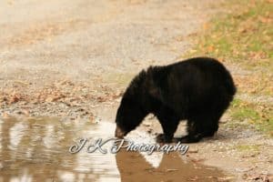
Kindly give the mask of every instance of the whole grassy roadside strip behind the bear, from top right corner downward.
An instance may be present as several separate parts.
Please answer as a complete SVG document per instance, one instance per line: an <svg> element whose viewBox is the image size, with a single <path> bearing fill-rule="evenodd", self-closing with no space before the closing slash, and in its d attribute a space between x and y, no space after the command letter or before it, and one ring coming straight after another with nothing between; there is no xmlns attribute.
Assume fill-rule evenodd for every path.
<svg viewBox="0 0 273 182"><path fill-rule="evenodd" d="M273 136L273 1L233 0L223 6L227 14L204 25L187 56L217 57L236 67L237 72L231 68L238 86L238 96L228 110L232 122L254 124Z"/></svg>

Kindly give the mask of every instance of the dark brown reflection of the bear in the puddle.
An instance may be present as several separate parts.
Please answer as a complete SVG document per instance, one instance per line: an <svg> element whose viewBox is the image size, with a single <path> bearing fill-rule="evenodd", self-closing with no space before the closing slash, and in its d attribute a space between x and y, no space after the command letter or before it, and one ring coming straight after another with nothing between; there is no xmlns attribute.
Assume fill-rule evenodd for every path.
<svg viewBox="0 0 273 182"><path fill-rule="evenodd" d="M121 182L143 181L218 181L217 178L225 177L217 168L197 165L183 160L177 152L160 156L149 157L149 161L159 160L159 166L152 166L147 157L138 152L126 151L125 148L116 153L116 166ZM160 160L161 159L161 160ZM186 158L184 158L186 159ZM213 178L211 178L213 177ZM219 179L220 180L220 179Z"/></svg>

